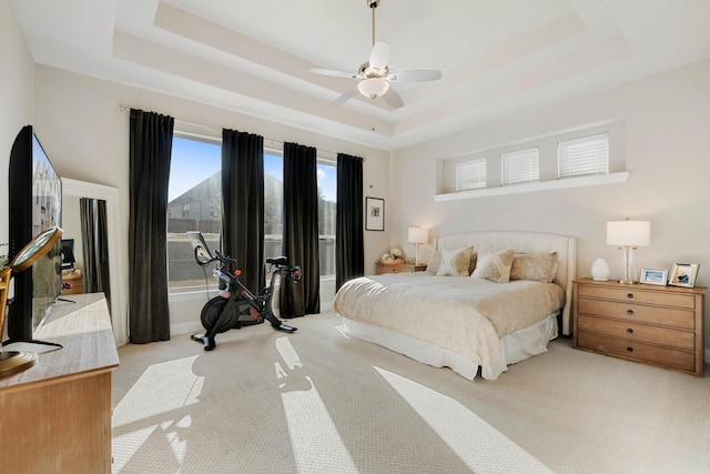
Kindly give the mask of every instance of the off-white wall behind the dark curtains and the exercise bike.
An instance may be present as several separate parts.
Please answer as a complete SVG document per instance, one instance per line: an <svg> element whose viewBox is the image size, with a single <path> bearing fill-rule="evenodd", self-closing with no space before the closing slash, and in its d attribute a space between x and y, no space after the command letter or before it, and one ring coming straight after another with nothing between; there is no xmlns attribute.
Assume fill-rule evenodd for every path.
<svg viewBox="0 0 710 474"><path fill-rule="evenodd" d="M205 133L221 137L222 128L257 133L280 142L297 142L329 152L364 157L365 194L389 198L389 152L345 142L275 122L242 115L224 109L131 88L69 71L37 64L34 70L36 129L42 145L61 177L118 188L124 254L128 255L129 223L129 113L121 105L172 115L176 122L204 125ZM181 127L180 123L176 128ZM367 232L365 258L374 272L374 262L387 248L388 232ZM128 259L128 256L126 256ZM128 260L123 263L129 269ZM130 269L123 275L126 285ZM322 303L333 297L324 285ZM130 295L128 295L130 299ZM195 301L171 303L174 333L199 329L204 296ZM126 304L128 307L128 304Z"/></svg>

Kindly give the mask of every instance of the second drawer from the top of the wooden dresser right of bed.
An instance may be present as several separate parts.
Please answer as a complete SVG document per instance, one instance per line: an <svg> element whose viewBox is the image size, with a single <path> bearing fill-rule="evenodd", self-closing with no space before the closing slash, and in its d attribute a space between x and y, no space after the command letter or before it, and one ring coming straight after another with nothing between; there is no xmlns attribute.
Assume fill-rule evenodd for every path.
<svg viewBox="0 0 710 474"><path fill-rule="evenodd" d="M581 293L581 291L580 291ZM623 321L662 324L683 330L696 329L696 313L673 307L646 306L638 302L616 302L579 297L579 314L617 317Z"/></svg>

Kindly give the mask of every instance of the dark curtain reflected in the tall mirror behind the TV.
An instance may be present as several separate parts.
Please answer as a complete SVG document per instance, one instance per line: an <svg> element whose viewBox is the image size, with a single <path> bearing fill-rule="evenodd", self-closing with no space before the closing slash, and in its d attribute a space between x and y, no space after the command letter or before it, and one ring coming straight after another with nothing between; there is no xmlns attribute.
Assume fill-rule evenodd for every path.
<svg viewBox="0 0 710 474"><path fill-rule="evenodd" d="M106 232L106 202L102 199L79 200L82 255L84 260L84 292L106 296L111 307L109 280L109 235Z"/></svg>

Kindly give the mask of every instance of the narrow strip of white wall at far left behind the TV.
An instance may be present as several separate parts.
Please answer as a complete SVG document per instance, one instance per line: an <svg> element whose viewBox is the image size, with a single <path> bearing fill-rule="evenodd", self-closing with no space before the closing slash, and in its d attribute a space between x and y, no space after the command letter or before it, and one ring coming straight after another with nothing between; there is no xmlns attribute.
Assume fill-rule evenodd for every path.
<svg viewBox="0 0 710 474"><path fill-rule="evenodd" d="M0 0L0 243L9 236L8 163L14 138L32 123L34 72L10 0ZM0 254L8 248L1 246Z"/></svg>

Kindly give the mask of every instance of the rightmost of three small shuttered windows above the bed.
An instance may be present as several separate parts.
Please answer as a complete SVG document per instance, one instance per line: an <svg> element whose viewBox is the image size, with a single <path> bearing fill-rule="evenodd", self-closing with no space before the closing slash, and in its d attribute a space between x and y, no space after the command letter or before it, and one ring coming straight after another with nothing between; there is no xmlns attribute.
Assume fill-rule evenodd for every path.
<svg viewBox="0 0 710 474"><path fill-rule="evenodd" d="M558 178L609 173L609 134L582 137L557 144Z"/></svg>

